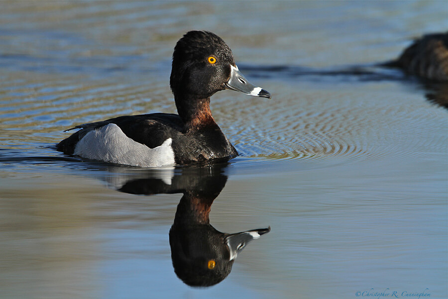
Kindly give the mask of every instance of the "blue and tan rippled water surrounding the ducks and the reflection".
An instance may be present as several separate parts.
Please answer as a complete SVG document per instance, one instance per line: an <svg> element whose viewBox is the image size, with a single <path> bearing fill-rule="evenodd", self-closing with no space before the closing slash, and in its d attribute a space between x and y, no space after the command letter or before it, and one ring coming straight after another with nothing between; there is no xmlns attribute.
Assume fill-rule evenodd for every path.
<svg viewBox="0 0 448 299"><path fill-rule="evenodd" d="M447 2L0 6L0 298L448 298L448 88L376 65L446 31ZM79 124L175 113L172 49L191 29L273 95L212 98L241 156L154 170L52 148ZM271 231L198 289L168 234L181 191L209 180L213 227Z"/></svg>

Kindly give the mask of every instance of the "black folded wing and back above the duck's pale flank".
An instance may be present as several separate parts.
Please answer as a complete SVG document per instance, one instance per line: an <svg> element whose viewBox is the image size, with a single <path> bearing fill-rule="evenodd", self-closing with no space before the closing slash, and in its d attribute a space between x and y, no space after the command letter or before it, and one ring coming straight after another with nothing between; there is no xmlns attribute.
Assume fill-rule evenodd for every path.
<svg viewBox="0 0 448 299"><path fill-rule="evenodd" d="M57 145L57 150L73 154L78 142L87 133L109 124L115 124L128 138L151 149L163 144L167 139L182 134L184 125L176 114L154 113L134 116L121 116L106 121L88 123L68 129L81 129Z"/></svg>

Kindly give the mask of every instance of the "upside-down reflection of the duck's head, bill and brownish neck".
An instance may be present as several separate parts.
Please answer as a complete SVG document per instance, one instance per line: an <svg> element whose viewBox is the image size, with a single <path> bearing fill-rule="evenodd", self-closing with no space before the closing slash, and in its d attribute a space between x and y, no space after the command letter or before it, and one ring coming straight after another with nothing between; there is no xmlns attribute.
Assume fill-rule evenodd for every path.
<svg viewBox="0 0 448 299"><path fill-rule="evenodd" d="M209 220L216 193L204 191L184 193L169 235L174 272L192 287L209 287L223 281L241 250L270 231L270 227L234 234L218 231Z"/></svg>

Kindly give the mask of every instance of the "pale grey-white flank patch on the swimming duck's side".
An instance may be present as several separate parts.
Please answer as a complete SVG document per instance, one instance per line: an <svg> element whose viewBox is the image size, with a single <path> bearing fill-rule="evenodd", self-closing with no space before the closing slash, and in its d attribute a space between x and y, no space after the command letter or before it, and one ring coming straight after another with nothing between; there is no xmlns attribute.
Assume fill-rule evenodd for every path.
<svg viewBox="0 0 448 299"><path fill-rule="evenodd" d="M154 149L133 141L115 124L103 126L84 136L74 154L84 158L139 167L174 165L172 139Z"/></svg>

